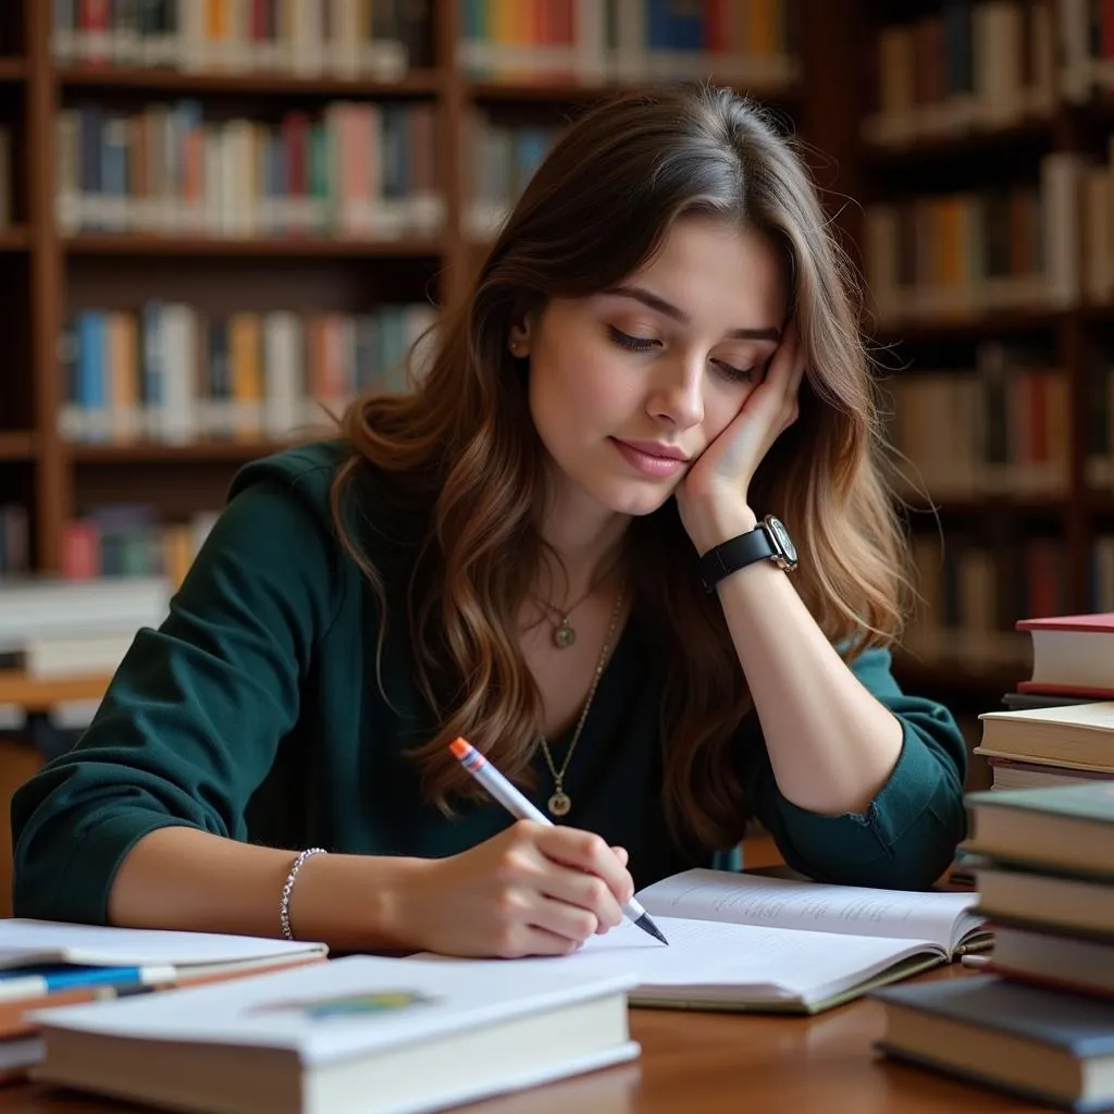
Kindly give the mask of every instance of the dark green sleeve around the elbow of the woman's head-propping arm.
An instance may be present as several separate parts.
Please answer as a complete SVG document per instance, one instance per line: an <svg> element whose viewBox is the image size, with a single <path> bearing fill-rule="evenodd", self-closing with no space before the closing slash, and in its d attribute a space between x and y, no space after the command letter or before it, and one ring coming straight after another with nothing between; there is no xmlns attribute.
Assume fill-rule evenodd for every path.
<svg viewBox="0 0 1114 1114"><path fill-rule="evenodd" d="M868 649L852 672L898 717L905 735L889 780L863 813L821 815L788 801L778 788L758 716L740 746L747 804L785 862L820 881L924 889L950 864L965 836L967 747L942 705L903 694L887 649Z"/></svg>

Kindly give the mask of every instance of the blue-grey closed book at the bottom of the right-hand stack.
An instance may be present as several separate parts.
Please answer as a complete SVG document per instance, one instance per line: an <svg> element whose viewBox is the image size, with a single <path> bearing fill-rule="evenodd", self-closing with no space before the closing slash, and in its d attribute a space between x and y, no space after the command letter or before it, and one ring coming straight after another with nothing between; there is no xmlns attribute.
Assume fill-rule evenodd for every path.
<svg viewBox="0 0 1114 1114"><path fill-rule="evenodd" d="M1114 1004L989 975L873 997L887 1055L1068 1110L1114 1105Z"/></svg>

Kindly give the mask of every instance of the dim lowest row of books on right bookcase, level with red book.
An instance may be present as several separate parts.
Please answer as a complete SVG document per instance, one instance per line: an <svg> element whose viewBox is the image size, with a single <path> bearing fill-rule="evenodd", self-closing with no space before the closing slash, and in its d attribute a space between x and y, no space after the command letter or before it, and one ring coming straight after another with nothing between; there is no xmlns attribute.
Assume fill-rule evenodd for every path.
<svg viewBox="0 0 1114 1114"><path fill-rule="evenodd" d="M980 545L954 534L941 554L938 538L917 535L912 561L920 600L905 647L926 661L1026 663L1029 643L1015 631L1016 616L1064 613L1067 554L1054 538ZM1094 539L1089 565L1088 606L1114 610L1114 536Z"/></svg>

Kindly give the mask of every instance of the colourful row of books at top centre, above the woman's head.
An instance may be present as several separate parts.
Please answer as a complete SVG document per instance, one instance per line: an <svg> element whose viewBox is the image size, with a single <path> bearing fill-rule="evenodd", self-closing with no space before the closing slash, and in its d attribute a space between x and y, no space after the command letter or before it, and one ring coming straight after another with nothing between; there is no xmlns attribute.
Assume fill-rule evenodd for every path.
<svg viewBox="0 0 1114 1114"><path fill-rule="evenodd" d="M461 0L458 60L482 80L800 76L798 0Z"/></svg>

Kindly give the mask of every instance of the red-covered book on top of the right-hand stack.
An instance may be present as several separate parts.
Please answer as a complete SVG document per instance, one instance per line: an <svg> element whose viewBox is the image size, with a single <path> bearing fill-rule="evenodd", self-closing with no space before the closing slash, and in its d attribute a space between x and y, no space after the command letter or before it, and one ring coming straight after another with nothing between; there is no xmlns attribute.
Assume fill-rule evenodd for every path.
<svg viewBox="0 0 1114 1114"><path fill-rule="evenodd" d="M1033 638L1033 677L1017 687L1028 693L1114 696L1114 613L1020 619Z"/></svg>

